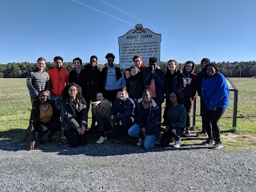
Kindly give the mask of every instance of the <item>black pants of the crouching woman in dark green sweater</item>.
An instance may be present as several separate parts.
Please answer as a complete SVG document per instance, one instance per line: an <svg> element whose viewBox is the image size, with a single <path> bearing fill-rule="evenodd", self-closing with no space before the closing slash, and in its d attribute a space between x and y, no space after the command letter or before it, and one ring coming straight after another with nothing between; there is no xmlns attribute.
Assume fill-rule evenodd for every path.
<svg viewBox="0 0 256 192"><path fill-rule="evenodd" d="M163 138L161 139L161 147L168 147L172 141L172 138L174 138L175 141L179 141L179 136L182 135L182 132L184 132L184 128L170 127L168 132L164 132L163 134Z"/></svg>

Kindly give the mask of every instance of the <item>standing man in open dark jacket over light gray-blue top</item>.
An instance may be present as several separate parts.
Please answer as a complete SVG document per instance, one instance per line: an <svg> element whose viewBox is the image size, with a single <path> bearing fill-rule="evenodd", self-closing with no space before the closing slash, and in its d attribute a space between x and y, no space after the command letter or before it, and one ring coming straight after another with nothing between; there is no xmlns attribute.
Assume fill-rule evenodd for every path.
<svg viewBox="0 0 256 192"><path fill-rule="evenodd" d="M112 104L116 100L116 82L122 77L122 72L119 67L114 65L115 55L113 53L108 53L106 55L108 60L107 67L102 68L102 79L103 84L105 84L104 92L106 93L106 99L108 99Z"/></svg>

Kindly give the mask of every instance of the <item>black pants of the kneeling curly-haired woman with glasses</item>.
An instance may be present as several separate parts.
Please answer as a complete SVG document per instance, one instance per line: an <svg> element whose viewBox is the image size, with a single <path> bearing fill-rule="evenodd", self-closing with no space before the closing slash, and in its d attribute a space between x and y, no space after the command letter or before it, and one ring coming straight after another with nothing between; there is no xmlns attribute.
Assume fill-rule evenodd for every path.
<svg viewBox="0 0 256 192"><path fill-rule="evenodd" d="M71 147L86 145L87 143L86 133L84 132L84 134L79 134L74 127L71 127L69 130L65 130L64 134L68 140L68 145Z"/></svg>

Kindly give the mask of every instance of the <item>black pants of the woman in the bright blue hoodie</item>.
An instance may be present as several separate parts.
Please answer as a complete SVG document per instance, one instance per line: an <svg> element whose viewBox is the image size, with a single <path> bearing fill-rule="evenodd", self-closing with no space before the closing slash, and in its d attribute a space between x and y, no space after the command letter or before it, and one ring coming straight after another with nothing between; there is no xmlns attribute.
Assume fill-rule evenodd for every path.
<svg viewBox="0 0 256 192"><path fill-rule="evenodd" d="M216 108L215 111L209 110L205 107L204 114L204 127L207 131L209 140L215 139L216 142L220 141L220 127L218 122L220 121L221 116L225 112L226 108ZM215 138L212 137L212 131L214 132Z"/></svg>

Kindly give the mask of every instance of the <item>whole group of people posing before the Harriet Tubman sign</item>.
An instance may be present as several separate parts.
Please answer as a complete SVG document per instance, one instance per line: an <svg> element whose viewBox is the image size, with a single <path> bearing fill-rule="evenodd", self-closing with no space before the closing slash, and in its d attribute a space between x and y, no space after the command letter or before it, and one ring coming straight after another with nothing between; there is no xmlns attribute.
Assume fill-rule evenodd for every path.
<svg viewBox="0 0 256 192"><path fill-rule="evenodd" d="M98 132L96 143L106 141L107 136L122 137L123 143L134 137L138 138L137 145L146 149L156 143L168 147L172 140L173 147L179 148L182 133L190 136L190 111L196 91L202 116L202 132L197 135L208 135L202 145L223 147L218 121L228 106L229 90L225 77L208 58L201 61L202 71L197 76L193 61L187 61L180 70L177 61L170 60L164 74L157 58L149 58L146 66L141 56L135 55L134 65L122 76L112 53L106 55L106 60L107 66L100 71L97 56L91 56L90 64L84 67L82 60L75 58L74 69L68 74L60 56L54 58L55 67L47 72L46 60L38 58L38 68L27 75L32 104L26 132L31 139L30 150L35 148L36 132L39 143L44 143L44 135L51 142L54 132L60 130L61 140L71 147L86 145L86 134ZM90 106L92 125L88 129Z"/></svg>

